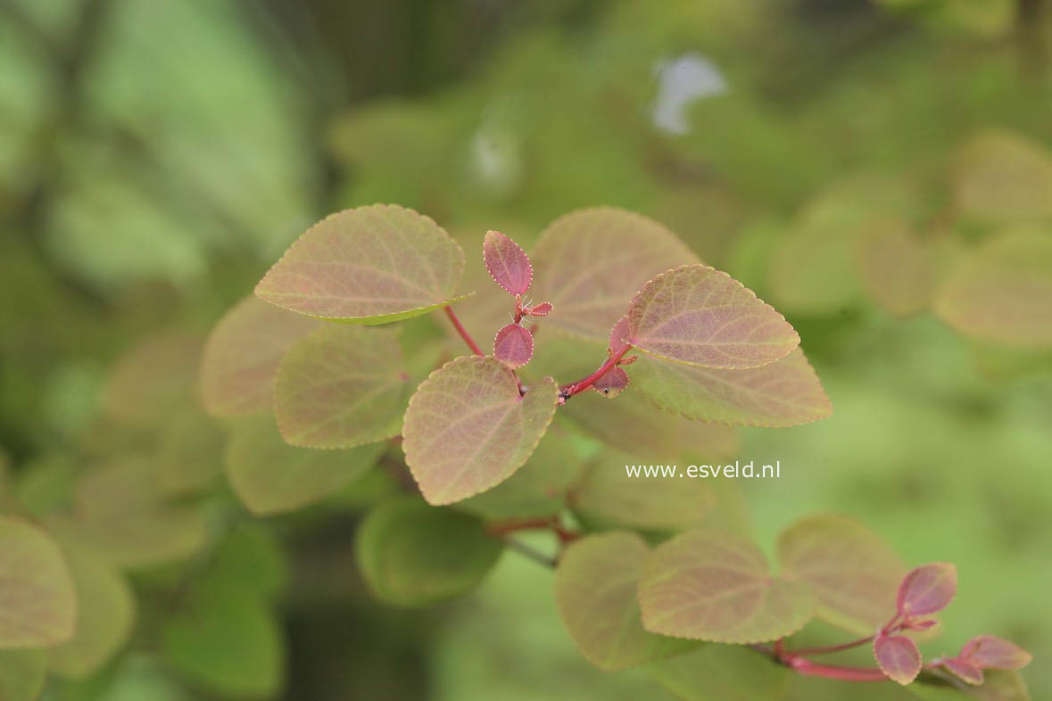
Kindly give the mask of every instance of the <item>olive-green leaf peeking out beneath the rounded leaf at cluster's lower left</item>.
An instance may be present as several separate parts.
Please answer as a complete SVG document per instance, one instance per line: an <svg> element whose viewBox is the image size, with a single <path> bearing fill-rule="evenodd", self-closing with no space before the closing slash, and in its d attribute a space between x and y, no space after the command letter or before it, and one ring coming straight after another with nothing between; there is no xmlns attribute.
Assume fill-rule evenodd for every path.
<svg viewBox="0 0 1052 701"><path fill-rule="evenodd" d="M248 416L226 446L226 477L254 514L294 511L332 494L368 472L384 444L349 450L309 450L286 444L269 415Z"/></svg>

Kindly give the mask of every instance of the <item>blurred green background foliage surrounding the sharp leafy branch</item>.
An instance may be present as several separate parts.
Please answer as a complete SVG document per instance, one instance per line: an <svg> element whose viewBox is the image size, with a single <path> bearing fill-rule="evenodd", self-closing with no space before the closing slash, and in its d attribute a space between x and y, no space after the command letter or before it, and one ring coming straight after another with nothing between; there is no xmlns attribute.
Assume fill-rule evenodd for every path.
<svg viewBox="0 0 1052 701"><path fill-rule="evenodd" d="M144 565L130 642L44 698L671 698L590 667L550 573L513 553L470 597L372 601L350 543L384 475L270 529L237 507L194 399L200 345L309 224L373 202L468 255L487 228L528 247L590 205L669 226L787 315L833 403L742 431L742 456L782 461L740 489L760 542L837 511L911 565L955 562L926 652L1003 635L1052 697L1052 349L931 311L1006 232L1047 250L1050 5L0 0L8 489L49 514L85 470L146 460L203 514L166 522L175 563L124 543ZM202 647L171 605L239 575L262 601L223 609L258 631L248 675L214 668L221 636Z"/></svg>

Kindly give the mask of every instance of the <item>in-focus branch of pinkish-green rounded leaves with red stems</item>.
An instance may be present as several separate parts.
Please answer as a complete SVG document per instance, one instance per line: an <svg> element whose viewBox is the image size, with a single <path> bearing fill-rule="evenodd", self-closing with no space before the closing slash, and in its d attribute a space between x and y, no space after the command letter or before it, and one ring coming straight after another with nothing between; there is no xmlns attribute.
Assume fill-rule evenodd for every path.
<svg viewBox="0 0 1052 701"><path fill-rule="evenodd" d="M998 638L922 662L908 636L952 596L950 565L907 573L879 537L830 515L785 531L774 575L706 480L620 473L641 451L729 453L723 426L827 416L829 399L780 313L661 225L612 208L557 220L532 262L497 231L481 257L501 291L476 297L465 324L452 305L472 293L458 290L465 256L456 241L402 207L347 210L304 233L258 298L219 323L203 397L210 413L237 419L226 471L250 511L290 511L383 463L420 494L383 500L358 531L360 568L379 598L421 605L464 593L511 545L555 569L560 613L587 659L603 669L649 664L688 698L728 698L706 696L715 694L708 681L684 690L694 687L684 674L729 668L727 650L762 663L762 674L733 682L748 698L809 698L792 696L798 681L750 686L775 674L916 679L908 688L922 698L973 688L1027 698L1014 671L1029 656ZM500 318L497 303L507 316L484 350L467 327ZM369 328L431 311L470 354L449 358L441 331ZM578 379L552 377L583 363L593 370ZM582 451L588 467L567 467ZM524 530L558 536L558 557L525 548L514 538ZM796 645L813 619L866 637ZM876 665L812 659L870 642Z"/></svg>

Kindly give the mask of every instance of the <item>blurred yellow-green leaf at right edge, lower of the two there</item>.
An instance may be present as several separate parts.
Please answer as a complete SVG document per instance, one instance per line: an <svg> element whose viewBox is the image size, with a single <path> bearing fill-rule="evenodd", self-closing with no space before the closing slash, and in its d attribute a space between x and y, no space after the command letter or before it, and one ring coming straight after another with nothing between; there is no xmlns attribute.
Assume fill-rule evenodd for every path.
<svg viewBox="0 0 1052 701"><path fill-rule="evenodd" d="M978 341L1052 347L1052 231L1012 229L984 242L948 274L934 309Z"/></svg>

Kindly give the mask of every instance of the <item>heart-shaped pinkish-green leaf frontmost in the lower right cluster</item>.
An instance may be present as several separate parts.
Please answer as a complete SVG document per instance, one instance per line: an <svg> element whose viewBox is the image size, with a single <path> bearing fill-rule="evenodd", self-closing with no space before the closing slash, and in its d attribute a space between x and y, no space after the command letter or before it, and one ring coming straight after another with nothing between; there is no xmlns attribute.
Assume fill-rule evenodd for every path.
<svg viewBox="0 0 1052 701"><path fill-rule="evenodd" d="M659 545L644 565L640 604L651 633L737 644L791 635L814 614L807 584L772 576L755 544L714 530Z"/></svg>

